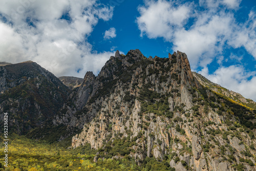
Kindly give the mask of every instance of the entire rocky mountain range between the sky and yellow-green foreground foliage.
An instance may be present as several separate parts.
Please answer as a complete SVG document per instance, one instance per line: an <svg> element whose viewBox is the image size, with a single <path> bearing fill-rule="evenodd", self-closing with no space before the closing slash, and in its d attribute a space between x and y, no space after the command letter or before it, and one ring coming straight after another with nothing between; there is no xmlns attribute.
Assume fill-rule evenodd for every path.
<svg viewBox="0 0 256 171"><path fill-rule="evenodd" d="M89 147L94 163L128 158L134 170L256 170L256 103L191 72L185 53L117 51L97 76L60 78L70 89L34 62L2 66L0 74L0 110L16 113L13 132L65 141L80 154Z"/></svg>

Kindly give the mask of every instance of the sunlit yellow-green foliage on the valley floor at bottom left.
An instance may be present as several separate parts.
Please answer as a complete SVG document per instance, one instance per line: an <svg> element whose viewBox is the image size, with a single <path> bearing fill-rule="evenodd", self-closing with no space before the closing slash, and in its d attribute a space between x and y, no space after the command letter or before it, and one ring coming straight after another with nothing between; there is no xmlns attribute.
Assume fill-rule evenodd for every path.
<svg viewBox="0 0 256 171"><path fill-rule="evenodd" d="M69 170L110 170L96 166L96 163L86 159L87 155L73 155L70 151L64 151L60 147L60 157L56 157L56 145L34 142L24 136L15 136L9 144L10 165L8 170L20 171L47 171L47 170L63 170L67 166ZM0 147L0 155L3 155L4 148ZM79 159L77 159L79 157ZM84 160L80 160L85 158ZM0 158L3 163L4 158ZM66 162L63 162L66 161ZM105 160L106 163L111 163L112 160ZM79 164L80 163L80 164ZM17 168L15 168L17 167ZM20 168L20 169L19 169ZM2 169L0 169L2 170ZM6 169L7 170L7 169ZM125 169L124 169L125 170Z"/></svg>

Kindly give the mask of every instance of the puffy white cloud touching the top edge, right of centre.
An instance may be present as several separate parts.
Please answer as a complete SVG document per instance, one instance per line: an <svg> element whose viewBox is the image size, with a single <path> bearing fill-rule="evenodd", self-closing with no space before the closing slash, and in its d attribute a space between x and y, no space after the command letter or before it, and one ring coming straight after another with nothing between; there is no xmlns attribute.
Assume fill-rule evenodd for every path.
<svg viewBox="0 0 256 171"><path fill-rule="evenodd" d="M174 7L173 2L165 0L146 1L145 6L139 6L141 16L137 17L137 24L141 31L149 38L164 37L169 40L173 36L174 27L186 24L191 12L190 4Z"/></svg>

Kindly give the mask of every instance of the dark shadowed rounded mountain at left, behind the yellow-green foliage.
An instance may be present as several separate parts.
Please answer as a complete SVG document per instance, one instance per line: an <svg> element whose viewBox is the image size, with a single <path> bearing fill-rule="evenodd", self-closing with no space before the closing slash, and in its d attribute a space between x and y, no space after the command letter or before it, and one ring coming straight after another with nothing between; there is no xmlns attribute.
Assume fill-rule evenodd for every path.
<svg viewBox="0 0 256 171"><path fill-rule="evenodd" d="M67 100L69 89L37 63L0 67L0 111L9 113L9 132L27 134L53 117Z"/></svg>

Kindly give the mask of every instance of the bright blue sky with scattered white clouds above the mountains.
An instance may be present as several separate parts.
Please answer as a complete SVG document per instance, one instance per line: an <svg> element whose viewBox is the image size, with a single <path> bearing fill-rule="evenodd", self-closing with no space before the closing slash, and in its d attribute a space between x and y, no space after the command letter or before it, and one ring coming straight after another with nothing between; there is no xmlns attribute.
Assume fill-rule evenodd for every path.
<svg viewBox="0 0 256 171"><path fill-rule="evenodd" d="M187 54L191 69L256 100L256 2L3 0L0 61L98 74L116 50Z"/></svg>

